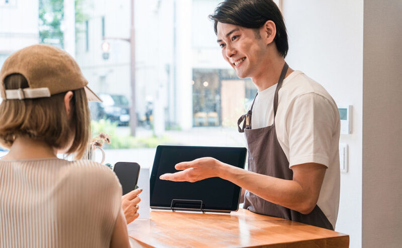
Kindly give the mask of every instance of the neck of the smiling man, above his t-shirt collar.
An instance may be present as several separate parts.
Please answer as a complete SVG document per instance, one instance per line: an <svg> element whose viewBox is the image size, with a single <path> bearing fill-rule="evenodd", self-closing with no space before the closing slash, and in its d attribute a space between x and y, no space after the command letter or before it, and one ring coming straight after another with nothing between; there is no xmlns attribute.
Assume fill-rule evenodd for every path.
<svg viewBox="0 0 402 248"><path fill-rule="evenodd" d="M280 73L282 72L285 60L283 57L274 57L264 62L261 71L251 78L259 91L267 89L276 84L279 80ZM285 77L293 72L290 67L287 69Z"/></svg>

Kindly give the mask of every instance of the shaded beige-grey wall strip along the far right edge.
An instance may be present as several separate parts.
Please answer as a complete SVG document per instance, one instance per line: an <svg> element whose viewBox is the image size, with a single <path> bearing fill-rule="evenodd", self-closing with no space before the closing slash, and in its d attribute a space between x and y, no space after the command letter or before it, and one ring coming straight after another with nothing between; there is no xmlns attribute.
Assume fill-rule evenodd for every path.
<svg viewBox="0 0 402 248"><path fill-rule="evenodd" d="M364 1L363 247L402 246L402 1Z"/></svg>

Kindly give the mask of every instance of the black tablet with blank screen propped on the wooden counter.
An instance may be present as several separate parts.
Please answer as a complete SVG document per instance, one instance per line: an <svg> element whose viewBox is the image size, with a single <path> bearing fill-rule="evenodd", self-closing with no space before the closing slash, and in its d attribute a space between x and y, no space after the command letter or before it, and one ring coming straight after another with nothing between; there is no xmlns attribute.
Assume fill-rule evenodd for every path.
<svg viewBox="0 0 402 248"><path fill-rule="evenodd" d="M198 182L160 180L165 173L177 172L174 166L184 161L213 157L224 163L244 168L245 148L158 146L151 174L151 207L170 207L173 199L202 200L204 209L236 210L240 187L221 178Z"/></svg>

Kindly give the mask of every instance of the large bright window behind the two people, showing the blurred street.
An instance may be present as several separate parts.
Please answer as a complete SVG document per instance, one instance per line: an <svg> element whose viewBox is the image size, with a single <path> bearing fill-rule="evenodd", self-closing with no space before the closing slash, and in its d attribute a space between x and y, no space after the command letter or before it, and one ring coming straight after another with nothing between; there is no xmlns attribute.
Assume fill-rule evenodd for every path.
<svg viewBox="0 0 402 248"><path fill-rule="evenodd" d="M74 56L103 99L89 104L91 130L111 136L112 165L150 167L160 144L245 146L237 120L256 88L222 58L208 18L220 2L10 1L0 5L0 64L36 43Z"/></svg>

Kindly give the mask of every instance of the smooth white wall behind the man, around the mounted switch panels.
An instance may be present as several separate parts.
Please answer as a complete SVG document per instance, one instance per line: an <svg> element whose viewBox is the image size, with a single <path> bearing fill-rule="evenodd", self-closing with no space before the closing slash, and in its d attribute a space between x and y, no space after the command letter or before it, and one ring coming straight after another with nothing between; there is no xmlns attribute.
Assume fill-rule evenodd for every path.
<svg viewBox="0 0 402 248"><path fill-rule="evenodd" d="M341 173L336 231L361 247L363 0L282 1L289 37L286 61L322 84L338 105L353 105L349 172Z"/></svg>

